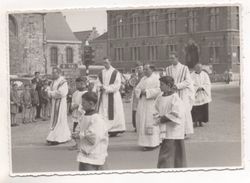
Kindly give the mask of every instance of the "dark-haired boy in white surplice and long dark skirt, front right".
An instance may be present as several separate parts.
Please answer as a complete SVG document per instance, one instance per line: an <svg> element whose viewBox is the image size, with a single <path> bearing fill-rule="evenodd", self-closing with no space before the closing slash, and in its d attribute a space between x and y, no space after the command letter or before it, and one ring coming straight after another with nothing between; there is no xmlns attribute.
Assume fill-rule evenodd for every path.
<svg viewBox="0 0 250 183"><path fill-rule="evenodd" d="M160 78L162 94L155 101L154 115L161 130L161 148L157 168L180 168L186 166L184 147L184 104L174 91L174 79Z"/></svg>

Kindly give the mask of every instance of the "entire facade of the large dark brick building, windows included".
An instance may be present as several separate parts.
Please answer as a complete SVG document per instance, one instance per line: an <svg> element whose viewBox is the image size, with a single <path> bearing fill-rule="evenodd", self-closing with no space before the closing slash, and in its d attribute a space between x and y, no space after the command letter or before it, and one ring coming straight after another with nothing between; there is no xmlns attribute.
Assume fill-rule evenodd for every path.
<svg viewBox="0 0 250 183"><path fill-rule="evenodd" d="M239 8L195 7L108 10L108 56L131 70L137 60L166 67L178 53L190 68L198 61L217 73L240 62Z"/></svg>

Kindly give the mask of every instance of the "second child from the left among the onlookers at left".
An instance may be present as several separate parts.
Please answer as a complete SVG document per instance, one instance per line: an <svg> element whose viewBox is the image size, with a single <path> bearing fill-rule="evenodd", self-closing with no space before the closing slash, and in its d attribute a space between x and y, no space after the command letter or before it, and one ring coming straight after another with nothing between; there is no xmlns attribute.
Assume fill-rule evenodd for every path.
<svg viewBox="0 0 250 183"><path fill-rule="evenodd" d="M31 93L30 93L30 85L24 85L24 91L21 94L21 103L23 107L23 124L31 122Z"/></svg>

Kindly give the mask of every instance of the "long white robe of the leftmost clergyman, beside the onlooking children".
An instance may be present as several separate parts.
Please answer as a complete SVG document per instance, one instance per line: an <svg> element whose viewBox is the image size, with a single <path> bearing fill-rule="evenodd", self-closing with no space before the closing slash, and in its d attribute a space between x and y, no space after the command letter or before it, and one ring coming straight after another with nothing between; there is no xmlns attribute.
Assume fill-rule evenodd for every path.
<svg viewBox="0 0 250 183"><path fill-rule="evenodd" d="M52 112L51 112L51 128L47 141L67 142L71 139L71 133L67 120L67 101L68 84L63 77L59 77L52 82L48 91L52 98ZM57 108L56 102L59 108ZM59 109L59 110L57 110Z"/></svg>

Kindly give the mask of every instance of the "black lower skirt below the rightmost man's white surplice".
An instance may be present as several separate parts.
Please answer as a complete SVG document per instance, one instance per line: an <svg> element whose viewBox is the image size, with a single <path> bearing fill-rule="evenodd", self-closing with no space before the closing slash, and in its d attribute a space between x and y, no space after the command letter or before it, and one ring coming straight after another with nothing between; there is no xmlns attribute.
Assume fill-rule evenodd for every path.
<svg viewBox="0 0 250 183"><path fill-rule="evenodd" d="M193 106L191 114L193 122L208 122L208 103Z"/></svg>

